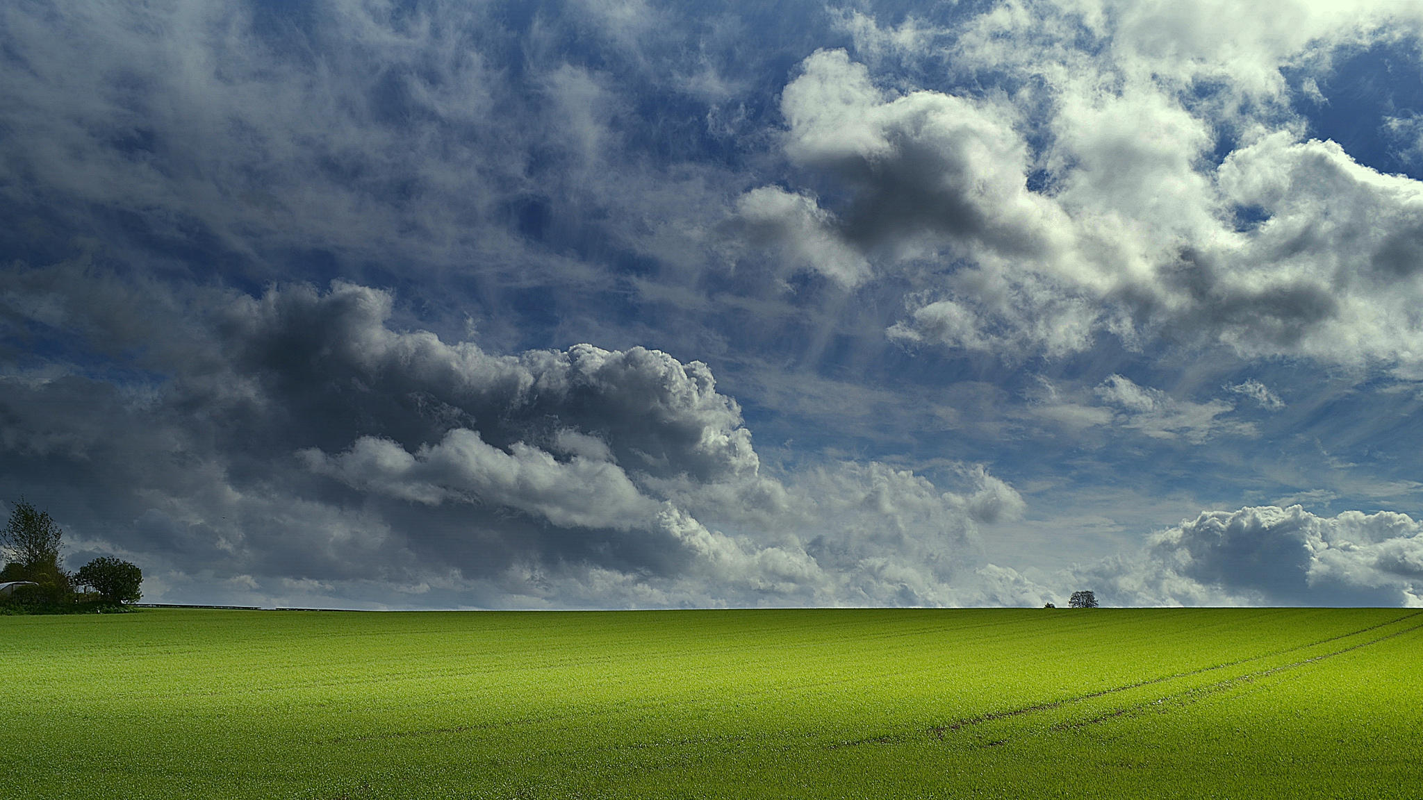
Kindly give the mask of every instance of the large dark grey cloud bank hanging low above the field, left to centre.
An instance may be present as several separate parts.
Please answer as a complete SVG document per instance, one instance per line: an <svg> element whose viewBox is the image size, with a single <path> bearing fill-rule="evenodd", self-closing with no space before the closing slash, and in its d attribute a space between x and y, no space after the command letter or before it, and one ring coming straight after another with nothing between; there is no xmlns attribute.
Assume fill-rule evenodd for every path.
<svg viewBox="0 0 1423 800"><path fill-rule="evenodd" d="M11 282L17 307L58 309L31 323L85 317L65 275ZM394 306L340 280L168 296L182 325L125 350L154 376L142 396L0 377L0 478L90 487L64 522L161 575L154 596L243 604L972 604L979 525L1025 510L982 465L955 467L953 491L877 461L768 474L703 363L492 354L394 329Z"/></svg>

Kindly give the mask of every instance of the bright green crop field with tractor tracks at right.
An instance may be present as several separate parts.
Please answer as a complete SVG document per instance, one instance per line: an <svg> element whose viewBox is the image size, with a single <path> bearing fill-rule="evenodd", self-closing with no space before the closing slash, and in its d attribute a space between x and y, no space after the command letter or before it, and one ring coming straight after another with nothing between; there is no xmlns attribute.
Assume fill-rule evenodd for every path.
<svg viewBox="0 0 1423 800"><path fill-rule="evenodd" d="M1423 612L0 616L0 797L1423 796Z"/></svg>

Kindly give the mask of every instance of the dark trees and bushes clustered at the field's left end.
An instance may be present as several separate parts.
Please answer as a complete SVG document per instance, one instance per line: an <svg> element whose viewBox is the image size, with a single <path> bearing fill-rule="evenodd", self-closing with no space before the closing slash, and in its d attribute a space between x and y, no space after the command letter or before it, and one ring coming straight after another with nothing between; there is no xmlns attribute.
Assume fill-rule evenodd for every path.
<svg viewBox="0 0 1423 800"><path fill-rule="evenodd" d="M64 531L23 497L0 530L0 544L11 561L0 569L0 604L23 611L83 611L92 605L121 605L142 596L144 572L137 565L102 555L65 572L60 567ZM81 591L81 588L90 591Z"/></svg>

